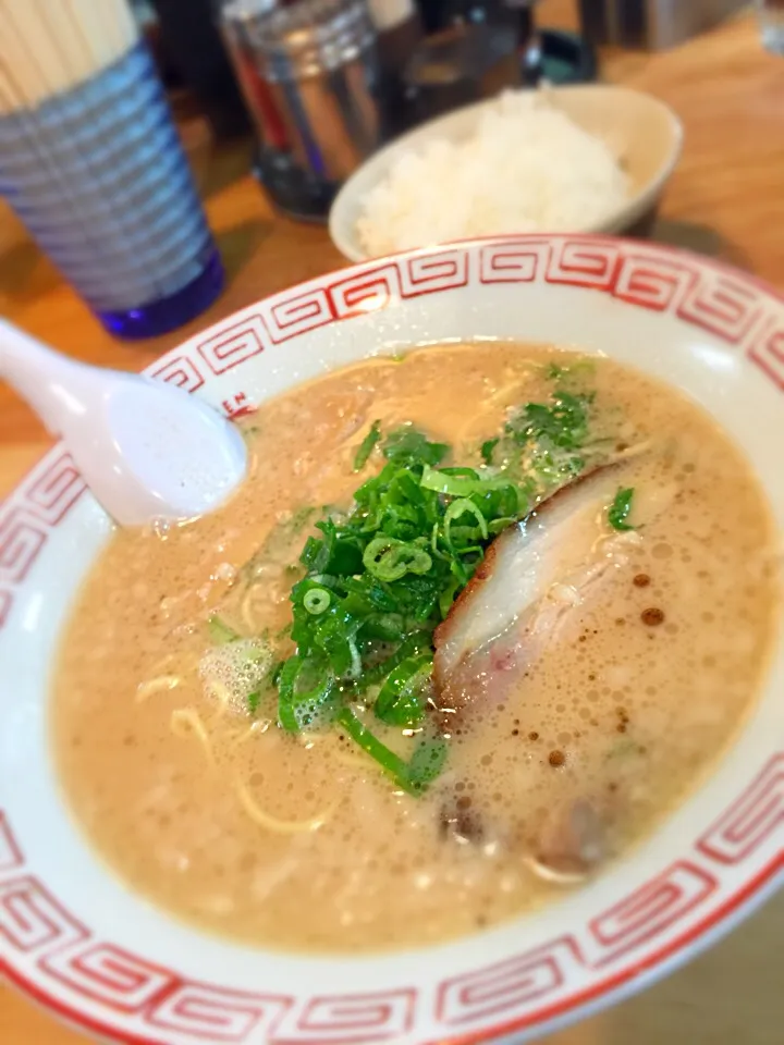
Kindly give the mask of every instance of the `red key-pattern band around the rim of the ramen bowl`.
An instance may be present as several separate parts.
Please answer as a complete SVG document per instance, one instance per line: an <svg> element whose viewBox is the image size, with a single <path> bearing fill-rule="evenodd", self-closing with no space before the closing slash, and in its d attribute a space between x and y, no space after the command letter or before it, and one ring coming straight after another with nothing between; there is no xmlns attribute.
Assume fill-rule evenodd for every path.
<svg viewBox="0 0 784 1045"><path fill-rule="evenodd" d="M195 391L249 356L328 322L383 309L397 297L537 281L670 311L738 346L784 389L784 320L773 292L669 248L593 236L507 237L343 270L241 314L164 356L151 372ZM226 401L228 413L242 408L237 396L243 393ZM0 627L49 532L83 490L73 463L56 447L0 507ZM752 859L751 885L738 885L737 870ZM100 938L26 866L0 809L0 972L95 1034L150 1045L358 1045L411 1034L421 1041L420 1022L436 1026L441 1038L479 1042L543 1025L664 962L719 925L783 861L780 753L688 853L572 934L448 978L432 997L413 985L293 997L191 980ZM726 878L730 870L734 877Z"/></svg>

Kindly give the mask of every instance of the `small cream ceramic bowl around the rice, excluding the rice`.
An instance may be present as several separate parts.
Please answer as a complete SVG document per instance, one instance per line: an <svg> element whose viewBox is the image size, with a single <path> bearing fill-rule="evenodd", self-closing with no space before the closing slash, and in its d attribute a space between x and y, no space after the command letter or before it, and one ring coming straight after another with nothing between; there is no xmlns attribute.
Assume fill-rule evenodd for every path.
<svg viewBox="0 0 784 1045"><path fill-rule="evenodd" d="M630 195L622 207L596 226L573 231L630 230L656 209L675 169L683 144L681 121L664 102L628 87L580 84L553 88L548 95L575 123L607 142L630 180ZM329 217L330 236L344 257L350 261L368 259L357 236L357 220L368 192L387 177L397 159L404 152L421 149L432 138L464 140L474 133L482 110L490 103L480 101L428 121L376 152L352 174L332 204Z"/></svg>

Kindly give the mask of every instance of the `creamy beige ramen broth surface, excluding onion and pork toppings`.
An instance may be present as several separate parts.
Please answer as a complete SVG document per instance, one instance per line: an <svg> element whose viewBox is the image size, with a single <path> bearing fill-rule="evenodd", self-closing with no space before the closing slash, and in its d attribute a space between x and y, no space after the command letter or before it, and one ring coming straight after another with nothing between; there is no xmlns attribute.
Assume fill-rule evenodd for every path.
<svg viewBox="0 0 784 1045"><path fill-rule="evenodd" d="M287 735L266 704L254 720L198 674L215 607L245 635L285 628L292 566L319 517L303 509L346 508L380 469L375 454L353 471L375 419L413 422L476 466L510 407L549 395L548 365L575 358L449 345L335 371L247 420L253 472L223 511L112 538L63 637L52 736L71 808L131 886L254 944L419 945L561 895L568 876L546 881L531 862L568 846L553 841L553 811L590 806L601 863L695 787L760 685L772 524L714 422L610 359L587 380L613 451L630 444L622 481L636 491L630 518L647 521L514 691L469 709L427 794L396 791L339 729ZM268 538L248 588L237 571Z"/></svg>

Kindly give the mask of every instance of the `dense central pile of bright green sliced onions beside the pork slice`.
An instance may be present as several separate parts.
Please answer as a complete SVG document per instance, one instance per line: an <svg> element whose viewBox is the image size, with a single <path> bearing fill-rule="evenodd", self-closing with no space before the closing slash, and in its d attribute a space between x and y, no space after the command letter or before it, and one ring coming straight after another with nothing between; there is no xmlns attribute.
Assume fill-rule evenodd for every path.
<svg viewBox="0 0 784 1045"><path fill-rule="evenodd" d="M432 632L499 525L528 508L507 477L439 467L448 452L411 426L397 429L382 445L387 464L355 492L352 509L316 524L320 534L301 556L306 576L291 594L296 653L278 677L284 728L340 722L399 784L408 765L417 787L420 772L384 754L369 727L351 720L350 704L372 705L387 725L426 725Z"/></svg>

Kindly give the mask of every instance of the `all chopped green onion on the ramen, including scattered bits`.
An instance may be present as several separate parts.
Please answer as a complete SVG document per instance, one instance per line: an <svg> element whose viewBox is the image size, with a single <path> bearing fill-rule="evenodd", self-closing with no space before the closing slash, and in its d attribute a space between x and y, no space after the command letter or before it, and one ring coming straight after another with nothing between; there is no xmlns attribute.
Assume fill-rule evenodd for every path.
<svg viewBox="0 0 784 1045"><path fill-rule="evenodd" d="M566 374L552 368L554 380ZM305 576L290 597L296 649L268 676L284 729L340 727L397 787L427 788L448 753L427 715L432 634L494 536L585 468L592 402L592 393L559 386L547 402L526 404L482 444L479 468L445 465L450 446L411 425L383 439L373 421L354 469L377 447L383 467L355 491L347 513L324 509L299 557ZM628 505L618 511L611 521L626 527ZM232 641L219 618L210 630L216 642ZM259 700L247 698L252 713ZM382 739L401 728L408 758Z"/></svg>

